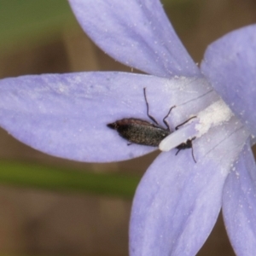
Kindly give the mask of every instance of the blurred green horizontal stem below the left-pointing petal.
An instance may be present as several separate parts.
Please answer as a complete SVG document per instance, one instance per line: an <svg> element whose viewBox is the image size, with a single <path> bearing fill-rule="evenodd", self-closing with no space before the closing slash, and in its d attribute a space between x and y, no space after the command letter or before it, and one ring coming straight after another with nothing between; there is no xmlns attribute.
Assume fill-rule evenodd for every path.
<svg viewBox="0 0 256 256"><path fill-rule="evenodd" d="M0 183L22 188L89 193L131 199L139 177L114 173L76 172L67 168L0 161Z"/></svg>

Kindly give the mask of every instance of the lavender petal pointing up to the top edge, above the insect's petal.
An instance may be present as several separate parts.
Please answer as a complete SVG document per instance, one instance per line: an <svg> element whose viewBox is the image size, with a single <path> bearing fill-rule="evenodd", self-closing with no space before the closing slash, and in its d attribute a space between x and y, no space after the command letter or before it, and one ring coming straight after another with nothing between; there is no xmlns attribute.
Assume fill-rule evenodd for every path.
<svg viewBox="0 0 256 256"><path fill-rule="evenodd" d="M69 3L84 31L115 60L161 77L200 74L159 0Z"/></svg>

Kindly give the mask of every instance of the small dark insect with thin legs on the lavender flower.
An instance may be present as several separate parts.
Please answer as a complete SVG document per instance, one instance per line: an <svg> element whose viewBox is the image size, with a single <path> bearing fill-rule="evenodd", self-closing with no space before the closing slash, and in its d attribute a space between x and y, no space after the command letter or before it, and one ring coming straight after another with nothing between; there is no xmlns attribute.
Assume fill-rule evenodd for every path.
<svg viewBox="0 0 256 256"><path fill-rule="evenodd" d="M125 138L127 140L128 145L131 145L132 143L140 144L140 145L146 145L146 146L152 146L152 147L158 147L160 142L170 135L172 133L169 124L167 123L166 119L168 118L169 114L171 113L172 109L176 106L172 106L170 108L169 112L166 114L166 116L163 119L163 123L166 125L166 128L159 125L156 119L152 115L149 114L149 106L148 106L148 100L146 96L146 88L143 88L144 98L147 106L147 115L148 118L151 119L154 123L149 123L146 120L143 119L135 119L135 118L128 118L128 119L119 119L111 124L108 124L107 126L113 130L116 130L119 133L120 137ZM187 119L182 124L177 125L175 127L175 130L177 130L180 126L186 124L189 122L190 119L194 119L195 116ZM187 140L185 143L181 143L177 146L177 153L182 149L186 148L192 148L192 156L195 161L194 152L193 152L193 145L192 141L195 140L195 137L192 139ZM195 161L196 163L196 161Z"/></svg>

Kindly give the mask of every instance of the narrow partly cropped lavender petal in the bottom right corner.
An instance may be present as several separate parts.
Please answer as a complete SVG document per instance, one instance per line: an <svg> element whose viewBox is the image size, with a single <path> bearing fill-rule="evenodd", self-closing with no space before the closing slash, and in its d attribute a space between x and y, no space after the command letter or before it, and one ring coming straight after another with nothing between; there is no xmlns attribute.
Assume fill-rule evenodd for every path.
<svg viewBox="0 0 256 256"><path fill-rule="evenodd" d="M224 184L224 223L236 255L256 252L256 168L247 143Z"/></svg>

